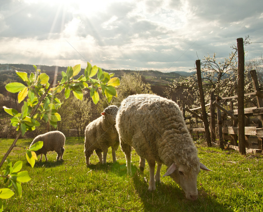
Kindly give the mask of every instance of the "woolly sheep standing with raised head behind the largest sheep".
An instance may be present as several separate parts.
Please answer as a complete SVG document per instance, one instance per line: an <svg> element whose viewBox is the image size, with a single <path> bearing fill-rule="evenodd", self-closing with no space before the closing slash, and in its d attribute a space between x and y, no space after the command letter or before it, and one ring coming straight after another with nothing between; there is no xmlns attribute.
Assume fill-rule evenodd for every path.
<svg viewBox="0 0 263 212"><path fill-rule="evenodd" d="M119 147L119 136L115 128L115 118L119 108L108 106L101 113L102 116L89 123L85 129L85 158L87 166L90 165L90 157L95 150L99 162L105 164L108 148L112 149L113 162L116 162L116 150ZM103 159L102 159L103 152Z"/></svg>

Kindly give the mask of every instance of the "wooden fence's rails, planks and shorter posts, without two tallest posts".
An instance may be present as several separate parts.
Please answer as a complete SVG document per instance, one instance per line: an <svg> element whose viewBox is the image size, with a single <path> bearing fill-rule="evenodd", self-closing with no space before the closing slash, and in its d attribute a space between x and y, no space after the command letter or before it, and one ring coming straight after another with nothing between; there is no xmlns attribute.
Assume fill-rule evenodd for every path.
<svg viewBox="0 0 263 212"><path fill-rule="evenodd" d="M246 140L246 152L257 152L262 151L262 139L263 139L263 128L262 128L262 116L263 116L263 88L258 86L257 74L255 70L250 71L252 76L255 91L253 93L244 94L244 96L256 95L257 107L244 108L244 131ZM207 113L209 120L209 132L211 135L212 143L218 143L221 147L228 145L234 149L238 147L238 110L233 109L232 99L237 96L231 97L217 97L216 99L211 93L211 100L205 107L210 107L210 113ZM226 110L224 106L220 105L221 100L229 100L231 102L230 110ZM205 127L203 125L203 117L199 114L201 107L187 109L185 111L191 113L191 116L185 117L186 123L189 125L189 131L192 137L199 138L200 134L205 134ZM214 112L217 110L217 112ZM212 115L211 115L212 114ZM217 126L216 126L217 121ZM202 125L202 127L200 127ZM221 130L220 130L221 129ZM220 143L221 142L221 143Z"/></svg>

